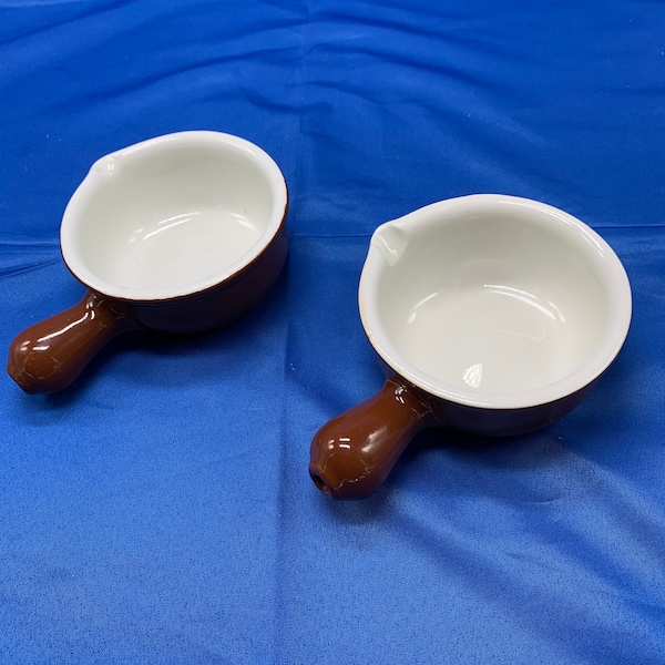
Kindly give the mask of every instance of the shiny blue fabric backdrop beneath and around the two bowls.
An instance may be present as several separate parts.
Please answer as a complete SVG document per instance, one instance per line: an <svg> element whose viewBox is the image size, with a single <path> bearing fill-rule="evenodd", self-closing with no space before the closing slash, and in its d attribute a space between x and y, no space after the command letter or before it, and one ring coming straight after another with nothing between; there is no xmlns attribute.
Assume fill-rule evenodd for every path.
<svg viewBox="0 0 665 665"><path fill-rule="evenodd" d="M665 662L665 4L0 0L0 342L73 304L63 208L98 157L208 129L291 194L236 325L127 338L72 389L0 378L0 662ZM335 503L311 436L381 375L369 235L500 192L624 262L634 320L570 416L426 432Z"/></svg>

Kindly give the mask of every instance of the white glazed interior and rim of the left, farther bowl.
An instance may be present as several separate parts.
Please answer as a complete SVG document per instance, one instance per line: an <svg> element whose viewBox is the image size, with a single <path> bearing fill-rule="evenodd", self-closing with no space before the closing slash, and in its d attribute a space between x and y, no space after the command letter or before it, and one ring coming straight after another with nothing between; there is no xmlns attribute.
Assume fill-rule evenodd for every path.
<svg viewBox="0 0 665 665"><path fill-rule="evenodd" d="M257 146L216 132L171 134L93 165L63 217L63 256L108 295L187 295L255 258L285 206L282 173Z"/></svg>

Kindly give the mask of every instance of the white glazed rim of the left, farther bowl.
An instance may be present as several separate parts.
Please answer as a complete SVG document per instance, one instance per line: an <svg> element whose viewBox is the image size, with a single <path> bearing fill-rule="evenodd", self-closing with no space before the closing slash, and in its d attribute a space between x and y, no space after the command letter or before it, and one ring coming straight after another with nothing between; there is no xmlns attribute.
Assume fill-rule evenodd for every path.
<svg viewBox="0 0 665 665"><path fill-rule="evenodd" d="M181 144L187 143L193 146L212 145L221 149L232 147L242 151L247 160L264 174L273 194L274 205L265 231L250 249L237 260L225 265L218 273L207 276L204 279L190 283L182 288L171 288L165 293L164 290L150 288L119 286L101 278L85 265L76 250L78 228L81 224L81 211L95 195L96 190L104 185L105 178L101 174L109 165L121 162L122 160L131 158L145 151L156 152L168 150L174 142ZM233 278L250 265L270 245L273 239L279 233L286 216L287 203L288 192L286 181L279 166L270 155L254 143L233 134L208 130L175 132L149 139L110 153L99 158L91 166L88 175L79 185L65 207L60 227L60 248L64 263L71 273L93 290L106 296L131 301L170 300L197 294L217 286L218 284Z"/></svg>

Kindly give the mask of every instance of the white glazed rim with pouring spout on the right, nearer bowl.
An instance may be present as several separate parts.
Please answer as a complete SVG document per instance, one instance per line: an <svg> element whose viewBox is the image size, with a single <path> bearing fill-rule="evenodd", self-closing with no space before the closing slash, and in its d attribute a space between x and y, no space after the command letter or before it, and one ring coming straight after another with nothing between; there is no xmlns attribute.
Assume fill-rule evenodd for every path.
<svg viewBox="0 0 665 665"><path fill-rule="evenodd" d="M498 206L526 206L534 222L557 225L561 235L583 253L595 268L607 296L611 319L602 342L594 354L572 374L549 385L516 392L489 392L464 390L428 375L407 361L396 349L382 323L378 305L378 286L386 260L380 249L379 234L391 225L408 227L418 233L418 227L431 223L432 217L444 224L449 213L473 212L497 213ZM590 242L591 241L591 242ZM628 277L621 260L610 245L591 227L555 207L518 196L502 194L473 194L428 205L399 219L379 226L370 241L370 247L360 276L358 289L360 319L370 344L398 375L430 395L444 400L483 409L523 409L562 399L581 390L612 364L621 350L628 332L632 317L632 295Z"/></svg>

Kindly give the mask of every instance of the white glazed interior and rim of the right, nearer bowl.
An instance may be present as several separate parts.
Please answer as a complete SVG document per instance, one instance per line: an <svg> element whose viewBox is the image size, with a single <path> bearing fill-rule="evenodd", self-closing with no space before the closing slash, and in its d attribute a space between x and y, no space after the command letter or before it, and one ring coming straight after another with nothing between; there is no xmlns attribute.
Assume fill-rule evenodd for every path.
<svg viewBox="0 0 665 665"><path fill-rule="evenodd" d="M626 294L622 336L613 328ZM478 406L572 392L564 379L616 354L630 321L627 278L600 236L549 206L490 195L378 229L360 295L368 336L389 365ZM621 337L612 350L608 334Z"/></svg>

